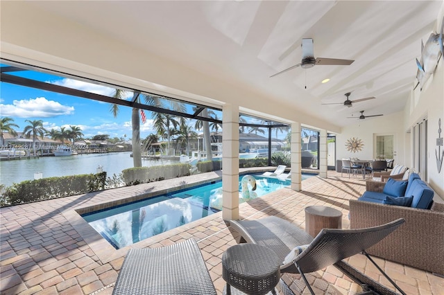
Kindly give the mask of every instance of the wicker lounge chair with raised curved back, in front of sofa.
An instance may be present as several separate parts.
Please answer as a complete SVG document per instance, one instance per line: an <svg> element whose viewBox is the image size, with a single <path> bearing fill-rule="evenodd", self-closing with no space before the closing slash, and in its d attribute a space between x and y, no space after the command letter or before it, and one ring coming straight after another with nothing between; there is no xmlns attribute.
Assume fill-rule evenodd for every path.
<svg viewBox="0 0 444 295"><path fill-rule="evenodd" d="M368 278L357 269L341 261L344 258L354 256L357 253L364 253L368 260L373 262L375 267L404 294L398 285L389 278L379 266L366 253L366 249L373 246L380 240L398 228L404 219L395 220L382 226L375 226L366 229L322 229L315 238L300 229L298 226L282 220L279 217L271 216L259 220L232 220L230 226L240 234L238 242L250 242L260 244L273 249L278 257L283 261L281 274L293 273L301 274L311 294L311 289L305 273L318 271L327 266L334 265L345 275L352 278L361 285L365 294L396 294L387 287ZM293 260L288 261L287 255L302 246L304 249ZM285 262L287 260L287 262ZM292 293L286 287L283 280L280 280L280 287L285 293Z"/></svg>

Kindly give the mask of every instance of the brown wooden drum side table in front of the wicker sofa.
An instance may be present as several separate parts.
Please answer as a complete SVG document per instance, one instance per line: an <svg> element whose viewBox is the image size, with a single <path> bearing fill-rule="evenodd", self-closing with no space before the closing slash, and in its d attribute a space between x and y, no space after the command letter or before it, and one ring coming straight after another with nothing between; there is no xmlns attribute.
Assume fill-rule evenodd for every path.
<svg viewBox="0 0 444 295"><path fill-rule="evenodd" d="M327 206L305 208L305 231L313 238L321 229L341 229L342 212Z"/></svg>

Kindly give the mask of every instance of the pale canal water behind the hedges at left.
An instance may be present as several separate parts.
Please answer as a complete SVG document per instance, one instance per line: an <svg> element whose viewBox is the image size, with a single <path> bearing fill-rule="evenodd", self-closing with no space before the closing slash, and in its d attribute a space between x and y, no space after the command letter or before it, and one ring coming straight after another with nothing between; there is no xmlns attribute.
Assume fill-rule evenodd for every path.
<svg viewBox="0 0 444 295"><path fill-rule="evenodd" d="M112 177L113 174L119 175L122 170L134 167L133 158L130 155L131 152L114 152L0 161L0 184L11 186L13 183L33 180L34 174L38 172L41 172L44 178L96 173L99 166L107 172L107 177ZM160 166L171 163L179 163L179 161L142 159L142 166Z"/></svg>

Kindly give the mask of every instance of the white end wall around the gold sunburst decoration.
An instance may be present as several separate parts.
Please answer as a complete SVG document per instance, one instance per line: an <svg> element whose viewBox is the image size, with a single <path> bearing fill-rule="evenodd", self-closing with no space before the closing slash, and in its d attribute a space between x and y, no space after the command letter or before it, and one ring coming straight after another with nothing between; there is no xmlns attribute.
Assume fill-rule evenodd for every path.
<svg viewBox="0 0 444 295"><path fill-rule="evenodd" d="M403 115L403 112L400 111L395 114L366 118L364 120L356 119L355 125L344 127L341 134L336 135L336 159L348 159L350 157L364 160L375 159L375 134L393 134L394 152L396 152L395 163L406 165ZM361 152L352 153L345 147L345 143L348 141L348 139L353 137L363 141L364 147L362 148Z"/></svg>

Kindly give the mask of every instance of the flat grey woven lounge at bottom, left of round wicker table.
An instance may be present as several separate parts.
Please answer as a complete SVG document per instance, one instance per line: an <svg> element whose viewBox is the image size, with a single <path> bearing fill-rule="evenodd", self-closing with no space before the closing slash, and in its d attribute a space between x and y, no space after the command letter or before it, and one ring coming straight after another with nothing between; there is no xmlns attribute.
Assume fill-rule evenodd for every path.
<svg viewBox="0 0 444 295"><path fill-rule="evenodd" d="M214 294L194 239L160 248L130 249L112 294Z"/></svg>

